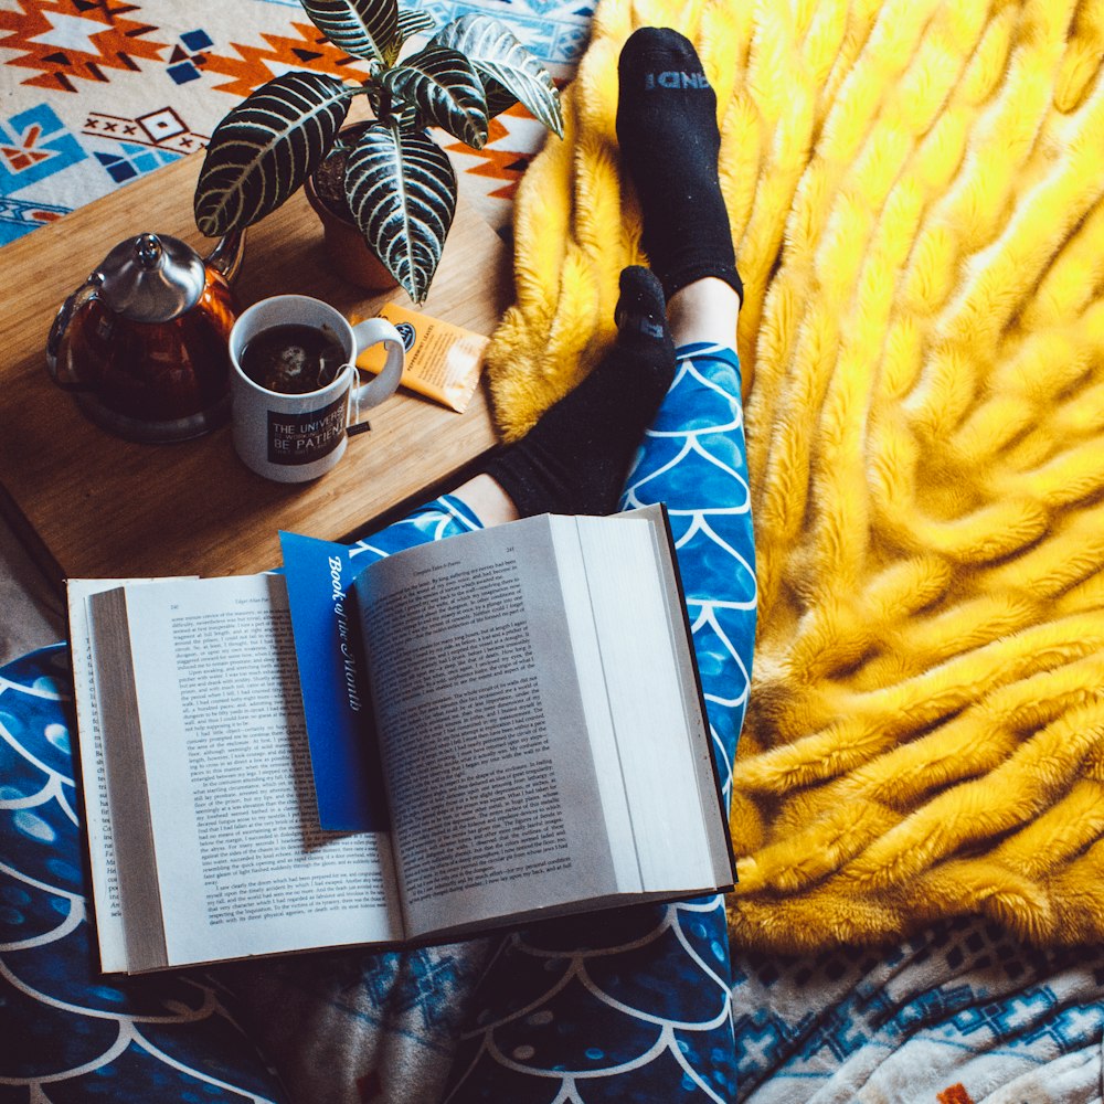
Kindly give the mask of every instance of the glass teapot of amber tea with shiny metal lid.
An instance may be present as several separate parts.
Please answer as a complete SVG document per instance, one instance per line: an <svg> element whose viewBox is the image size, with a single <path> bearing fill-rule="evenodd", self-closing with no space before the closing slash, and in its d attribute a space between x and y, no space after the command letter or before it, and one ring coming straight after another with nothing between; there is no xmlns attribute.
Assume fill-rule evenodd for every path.
<svg viewBox="0 0 1104 1104"><path fill-rule="evenodd" d="M244 232L206 257L167 234L119 242L62 304L46 368L97 425L131 440L183 440L230 414L231 280Z"/></svg>

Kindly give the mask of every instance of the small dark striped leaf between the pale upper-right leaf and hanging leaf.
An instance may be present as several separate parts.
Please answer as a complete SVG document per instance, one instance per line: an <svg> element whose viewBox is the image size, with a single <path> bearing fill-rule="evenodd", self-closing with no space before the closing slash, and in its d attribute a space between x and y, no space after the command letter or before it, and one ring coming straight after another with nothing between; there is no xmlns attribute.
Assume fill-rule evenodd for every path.
<svg viewBox="0 0 1104 1104"><path fill-rule="evenodd" d="M487 141L487 99L482 82L456 50L426 47L380 74L380 83L397 103L413 103L426 126L480 149Z"/></svg>

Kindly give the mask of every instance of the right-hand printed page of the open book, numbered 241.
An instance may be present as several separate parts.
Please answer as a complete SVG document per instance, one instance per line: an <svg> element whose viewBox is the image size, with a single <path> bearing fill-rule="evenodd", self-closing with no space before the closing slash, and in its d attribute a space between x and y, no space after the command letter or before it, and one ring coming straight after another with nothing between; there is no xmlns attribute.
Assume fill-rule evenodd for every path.
<svg viewBox="0 0 1104 1104"><path fill-rule="evenodd" d="M411 934L615 892L548 518L355 588Z"/></svg>

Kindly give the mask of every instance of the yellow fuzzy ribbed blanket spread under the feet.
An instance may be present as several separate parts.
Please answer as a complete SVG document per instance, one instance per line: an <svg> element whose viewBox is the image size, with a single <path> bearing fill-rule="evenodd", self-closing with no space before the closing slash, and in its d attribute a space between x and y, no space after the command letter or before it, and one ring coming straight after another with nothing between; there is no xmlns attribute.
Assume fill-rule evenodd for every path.
<svg viewBox="0 0 1104 1104"><path fill-rule="evenodd" d="M1104 2L603 0L517 202L503 434L639 259L633 28L698 44L747 299L760 571L734 936L1104 937ZM672 156L677 151L672 150Z"/></svg>

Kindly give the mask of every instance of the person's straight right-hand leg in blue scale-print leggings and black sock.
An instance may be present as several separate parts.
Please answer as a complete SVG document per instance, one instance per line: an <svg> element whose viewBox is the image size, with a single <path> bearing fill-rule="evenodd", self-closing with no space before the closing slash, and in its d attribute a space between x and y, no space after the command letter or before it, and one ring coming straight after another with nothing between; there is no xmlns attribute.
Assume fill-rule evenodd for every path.
<svg viewBox="0 0 1104 1104"><path fill-rule="evenodd" d="M669 291L678 347L673 382L647 429L620 507L667 505L728 798L755 634L734 348L742 285L718 202L715 100L692 46L673 32L637 32L622 55L623 103L662 88L658 78L670 72L688 74L676 91L691 89L689 96L647 100L651 129L639 126L631 107L618 118L627 167L638 185L649 182L650 191L640 195L645 247ZM675 183L683 141L698 151L690 173L696 179L684 194ZM665 171L655 171L657 159ZM702 217L691 217L689 231L649 236L649 227L668 225L672 213L670 224L679 224L679 212L690 210ZM558 1093L586 1102L734 1096L720 896L583 915L511 934L484 977L476 1007L454 1069L447 1097L453 1104L561 1098Z"/></svg>

